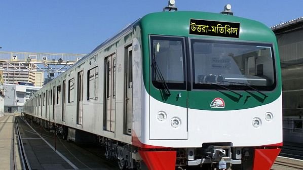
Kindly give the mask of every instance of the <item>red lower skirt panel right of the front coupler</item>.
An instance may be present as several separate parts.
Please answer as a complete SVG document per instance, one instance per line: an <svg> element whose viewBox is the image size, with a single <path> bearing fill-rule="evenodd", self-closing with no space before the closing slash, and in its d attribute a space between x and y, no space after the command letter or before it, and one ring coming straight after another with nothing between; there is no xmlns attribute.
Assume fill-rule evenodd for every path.
<svg viewBox="0 0 303 170"><path fill-rule="evenodd" d="M255 149L253 170L269 170L279 155L281 149Z"/></svg>

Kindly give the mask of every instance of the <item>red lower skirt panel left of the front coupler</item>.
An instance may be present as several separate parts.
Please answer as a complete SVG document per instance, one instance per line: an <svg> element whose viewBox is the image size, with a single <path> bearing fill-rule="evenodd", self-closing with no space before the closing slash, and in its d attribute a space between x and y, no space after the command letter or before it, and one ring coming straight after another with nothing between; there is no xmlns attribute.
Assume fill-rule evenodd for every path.
<svg viewBox="0 0 303 170"><path fill-rule="evenodd" d="M144 151L139 150L144 163L150 170L172 170L176 165L176 151Z"/></svg>

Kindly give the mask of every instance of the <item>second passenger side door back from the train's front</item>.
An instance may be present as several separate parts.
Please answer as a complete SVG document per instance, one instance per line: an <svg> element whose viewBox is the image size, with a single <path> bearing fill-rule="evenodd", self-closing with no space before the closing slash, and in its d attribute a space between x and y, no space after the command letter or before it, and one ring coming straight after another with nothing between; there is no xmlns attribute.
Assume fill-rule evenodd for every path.
<svg viewBox="0 0 303 170"><path fill-rule="evenodd" d="M77 79L77 124L82 125L83 117L83 70L78 72Z"/></svg>

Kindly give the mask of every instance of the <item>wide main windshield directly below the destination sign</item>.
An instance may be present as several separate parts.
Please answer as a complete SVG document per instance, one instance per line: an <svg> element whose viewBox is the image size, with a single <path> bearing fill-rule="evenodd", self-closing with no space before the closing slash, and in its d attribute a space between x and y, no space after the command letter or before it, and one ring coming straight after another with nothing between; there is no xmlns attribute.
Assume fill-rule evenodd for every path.
<svg viewBox="0 0 303 170"><path fill-rule="evenodd" d="M276 85L272 44L191 39L193 88L273 90Z"/></svg>

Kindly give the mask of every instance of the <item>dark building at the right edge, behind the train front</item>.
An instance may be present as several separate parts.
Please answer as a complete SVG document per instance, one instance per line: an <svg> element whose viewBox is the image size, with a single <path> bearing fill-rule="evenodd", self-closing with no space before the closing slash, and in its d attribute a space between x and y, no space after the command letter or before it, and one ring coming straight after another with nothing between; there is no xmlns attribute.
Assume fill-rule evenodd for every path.
<svg viewBox="0 0 303 170"><path fill-rule="evenodd" d="M282 69L283 141L303 143L303 18L271 27Z"/></svg>

